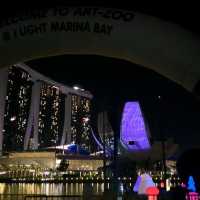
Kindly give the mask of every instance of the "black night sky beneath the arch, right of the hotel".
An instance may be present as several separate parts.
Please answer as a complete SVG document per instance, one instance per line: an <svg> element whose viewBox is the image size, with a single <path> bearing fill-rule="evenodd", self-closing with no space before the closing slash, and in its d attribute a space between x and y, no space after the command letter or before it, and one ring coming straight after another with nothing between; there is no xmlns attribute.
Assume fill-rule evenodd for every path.
<svg viewBox="0 0 200 200"><path fill-rule="evenodd" d="M166 138L175 138L184 148L199 144L199 100L156 72L94 55L63 55L27 64L56 81L69 86L79 84L89 90L94 95L95 112L105 105L116 130L124 103L138 100L153 138L159 138L162 131Z"/></svg>

